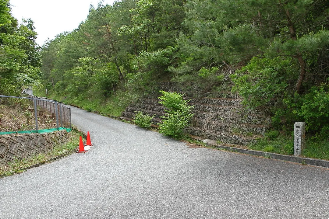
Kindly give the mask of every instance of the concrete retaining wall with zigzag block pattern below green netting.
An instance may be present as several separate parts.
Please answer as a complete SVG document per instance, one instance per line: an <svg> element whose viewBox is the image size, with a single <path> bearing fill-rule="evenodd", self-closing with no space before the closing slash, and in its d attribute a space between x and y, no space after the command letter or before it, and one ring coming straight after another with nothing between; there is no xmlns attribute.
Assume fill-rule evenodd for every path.
<svg viewBox="0 0 329 219"><path fill-rule="evenodd" d="M15 136L0 136L0 166L6 166L15 159L29 159L47 153L54 146L68 142L66 130Z"/></svg>

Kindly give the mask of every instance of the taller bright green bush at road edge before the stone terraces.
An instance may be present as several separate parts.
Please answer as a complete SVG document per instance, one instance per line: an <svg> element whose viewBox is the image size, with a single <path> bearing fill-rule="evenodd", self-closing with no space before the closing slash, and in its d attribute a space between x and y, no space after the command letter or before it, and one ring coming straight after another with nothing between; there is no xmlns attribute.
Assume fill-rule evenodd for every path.
<svg viewBox="0 0 329 219"><path fill-rule="evenodd" d="M189 120L193 117L191 113L193 106L189 106L190 100L184 100L183 94L174 92L159 91L163 96L159 97L162 101L159 103L163 104L167 109L167 112L161 118L162 123L158 123L159 132L165 136L171 136L175 139L183 138L183 130L189 125Z"/></svg>

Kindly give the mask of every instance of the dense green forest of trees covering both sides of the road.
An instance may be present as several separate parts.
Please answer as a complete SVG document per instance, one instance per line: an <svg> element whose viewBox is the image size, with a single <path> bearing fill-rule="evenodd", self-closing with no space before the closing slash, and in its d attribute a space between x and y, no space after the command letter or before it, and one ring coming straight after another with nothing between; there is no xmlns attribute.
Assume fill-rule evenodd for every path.
<svg viewBox="0 0 329 219"><path fill-rule="evenodd" d="M115 114L154 81L197 82L251 108L275 100L273 128L305 121L312 135L329 132L327 0L100 2L40 53L33 22L18 27L1 2L1 93L17 93L40 69L39 92Z"/></svg>

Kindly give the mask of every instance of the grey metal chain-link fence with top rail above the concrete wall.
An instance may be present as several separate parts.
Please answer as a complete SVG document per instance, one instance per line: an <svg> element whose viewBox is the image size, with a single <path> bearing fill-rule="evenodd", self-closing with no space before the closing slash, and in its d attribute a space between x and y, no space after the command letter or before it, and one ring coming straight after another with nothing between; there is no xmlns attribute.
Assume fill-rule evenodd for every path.
<svg viewBox="0 0 329 219"><path fill-rule="evenodd" d="M14 96L4 96L0 97L5 98L19 98L19 99L30 99L34 102L34 114L36 120L36 131L38 131L38 111L37 107L40 107L42 110L48 111L53 114L54 118L56 117L57 128L64 127L72 129L72 120L71 120L71 109L63 106L61 103L58 103L55 100L42 99L31 94L22 93L22 96L25 97L14 97Z"/></svg>

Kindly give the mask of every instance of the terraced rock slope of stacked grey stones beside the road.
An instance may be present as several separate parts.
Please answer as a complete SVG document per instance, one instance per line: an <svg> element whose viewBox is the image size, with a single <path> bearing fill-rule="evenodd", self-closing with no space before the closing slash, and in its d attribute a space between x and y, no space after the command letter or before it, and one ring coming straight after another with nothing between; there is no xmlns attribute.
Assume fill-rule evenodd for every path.
<svg viewBox="0 0 329 219"><path fill-rule="evenodd" d="M168 92L182 92L182 85L174 82L158 83L157 90ZM211 94L202 93L197 86L190 86L190 91L185 92L189 104L194 106L194 117L191 126L186 132L203 138L218 140L233 144L248 144L265 134L270 126L268 113L260 110L248 110L241 104L241 98L232 93ZM159 103L160 93L154 92L144 99L130 104L123 117L134 118L135 112L141 111L150 116L155 115L153 122L161 122L160 116L164 115L164 107ZM225 98L224 98L225 97Z"/></svg>

